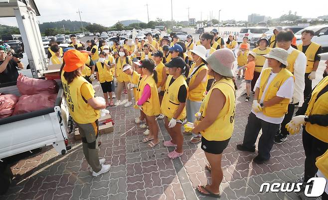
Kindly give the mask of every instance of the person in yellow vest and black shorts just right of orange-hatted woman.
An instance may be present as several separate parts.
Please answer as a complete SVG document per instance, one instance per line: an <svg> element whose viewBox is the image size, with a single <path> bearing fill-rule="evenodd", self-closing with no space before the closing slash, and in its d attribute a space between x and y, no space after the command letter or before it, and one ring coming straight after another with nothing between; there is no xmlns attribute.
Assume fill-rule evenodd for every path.
<svg viewBox="0 0 328 200"><path fill-rule="evenodd" d="M99 60L96 62L96 76L97 80L100 82L101 89L103 90L104 97L106 100L106 106L114 106L114 101L112 97L112 83L114 80L111 63L109 60L105 60L107 54L102 51L99 55ZM110 103L108 103L108 97Z"/></svg>

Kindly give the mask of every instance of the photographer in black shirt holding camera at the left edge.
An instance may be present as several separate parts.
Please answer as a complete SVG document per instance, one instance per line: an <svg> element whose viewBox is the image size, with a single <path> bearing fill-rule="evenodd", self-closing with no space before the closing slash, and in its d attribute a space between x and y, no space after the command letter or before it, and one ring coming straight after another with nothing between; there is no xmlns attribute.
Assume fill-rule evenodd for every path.
<svg viewBox="0 0 328 200"><path fill-rule="evenodd" d="M6 53L6 49L0 46L0 83L16 81L18 77L17 68L24 68L19 58L13 57L10 52Z"/></svg>

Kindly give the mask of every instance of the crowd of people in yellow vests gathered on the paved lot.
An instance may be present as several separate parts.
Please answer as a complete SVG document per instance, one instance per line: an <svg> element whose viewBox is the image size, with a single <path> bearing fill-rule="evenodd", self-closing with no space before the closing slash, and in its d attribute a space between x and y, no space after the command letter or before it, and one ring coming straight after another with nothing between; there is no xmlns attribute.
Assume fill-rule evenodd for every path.
<svg viewBox="0 0 328 200"><path fill-rule="evenodd" d="M262 130L258 155L253 159L261 165L270 159L274 143L285 142L289 133L299 132L303 125L305 175L291 182L306 184L316 174L328 178L327 69L312 89L319 61L328 55L321 54L321 46L311 41L312 30L302 32L303 43L299 46L293 45L292 32L277 27L274 33L271 38L260 38L253 50L247 37L238 44L231 34L224 42L216 29L201 34L199 41L191 35L182 41L175 34L153 38L148 33L144 39L127 39L123 45L117 39L109 46L105 41L97 45L95 40L75 43L76 36L71 35L69 48L51 45L49 58L51 63L62 63L61 79L64 88L70 88L65 89L65 97L74 105L70 114L79 127L92 175L110 170L105 159L98 157L99 110L123 102L129 107L134 96L134 108L140 110L135 123L146 129L142 142L149 148L159 145L157 119L164 119L171 139L163 144L175 147L167 156L176 159L183 155L183 134L192 134L189 142L201 142L208 161L205 167L212 178L211 185L199 185L196 190L219 197L222 153L234 129L237 78L245 79L246 92L242 96L246 102L253 99L253 104L243 143L236 149L255 152ZM103 90L104 103L95 98L95 78ZM123 93L127 94L125 101ZM299 109L293 117L296 107ZM327 198L327 192L323 197Z"/></svg>

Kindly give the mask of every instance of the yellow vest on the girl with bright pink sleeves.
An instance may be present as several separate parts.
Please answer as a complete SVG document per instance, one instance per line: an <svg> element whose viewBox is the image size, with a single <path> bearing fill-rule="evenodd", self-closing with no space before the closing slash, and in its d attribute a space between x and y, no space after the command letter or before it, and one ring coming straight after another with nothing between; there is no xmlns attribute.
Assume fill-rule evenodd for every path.
<svg viewBox="0 0 328 200"><path fill-rule="evenodd" d="M156 82L153 76L147 76L141 83L140 92L139 92L139 99L141 98L144 88L146 85L151 87L151 98L148 99L143 105L142 109L143 112L147 116L156 116L161 113L161 105L160 105L160 98L157 92Z"/></svg>

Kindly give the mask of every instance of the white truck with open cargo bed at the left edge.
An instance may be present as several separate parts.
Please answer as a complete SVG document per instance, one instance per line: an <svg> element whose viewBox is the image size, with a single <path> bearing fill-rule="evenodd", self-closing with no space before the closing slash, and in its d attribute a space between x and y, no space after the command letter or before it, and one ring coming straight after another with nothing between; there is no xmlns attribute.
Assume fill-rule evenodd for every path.
<svg viewBox="0 0 328 200"><path fill-rule="evenodd" d="M24 42L30 69L21 70L20 73L41 78L47 70L47 59L37 15L40 13L34 0L0 0L0 17L16 17ZM60 80L57 83L61 85ZM1 92L20 96L16 82L0 84ZM49 145L62 155L70 150L67 139L68 107L65 102L60 87L53 107L0 119L0 194L8 190L12 179L10 167L20 159Z"/></svg>

